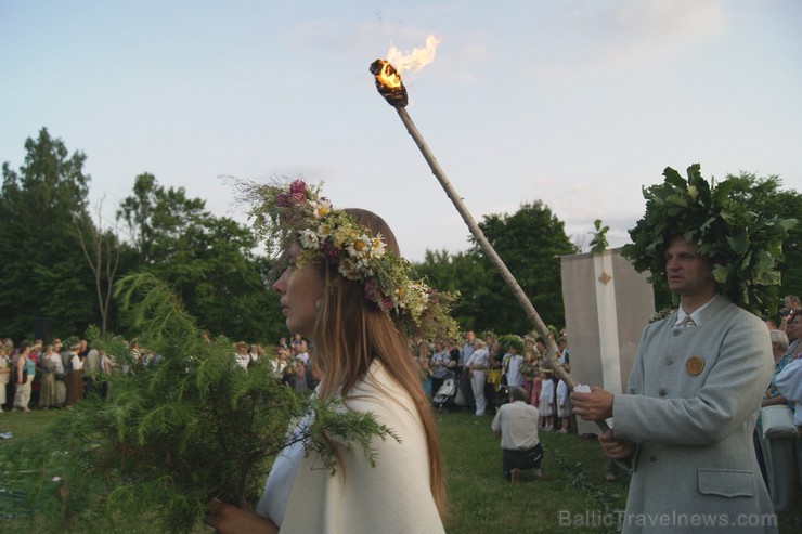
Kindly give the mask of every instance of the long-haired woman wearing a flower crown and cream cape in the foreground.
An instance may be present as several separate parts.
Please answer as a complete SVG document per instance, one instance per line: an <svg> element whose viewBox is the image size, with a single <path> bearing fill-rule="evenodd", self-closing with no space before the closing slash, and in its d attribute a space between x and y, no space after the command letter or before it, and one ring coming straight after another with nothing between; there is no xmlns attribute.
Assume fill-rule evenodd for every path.
<svg viewBox="0 0 802 534"><path fill-rule="evenodd" d="M257 230L288 238L289 265L273 287L287 328L314 343L323 373L318 396L340 395L347 409L371 413L398 439L372 441L373 467L359 447L329 437L335 474L316 453L290 445L255 513L221 504L207 522L221 533L443 532L437 429L408 341L456 334L449 296L411 277L375 213L335 210L301 181L250 193L263 199L251 212Z"/></svg>

